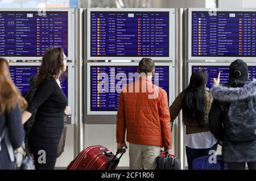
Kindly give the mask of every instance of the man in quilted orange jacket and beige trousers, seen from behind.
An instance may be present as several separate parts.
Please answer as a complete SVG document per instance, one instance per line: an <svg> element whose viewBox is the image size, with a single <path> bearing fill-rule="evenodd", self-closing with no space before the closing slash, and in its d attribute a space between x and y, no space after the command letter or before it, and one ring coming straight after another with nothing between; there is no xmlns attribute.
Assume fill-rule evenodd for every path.
<svg viewBox="0 0 256 181"><path fill-rule="evenodd" d="M167 93L153 85L155 64L142 58L139 79L123 86L117 112L117 149L129 142L130 169L156 169L160 148L171 152L171 125ZM149 90L150 89L150 90Z"/></svg>

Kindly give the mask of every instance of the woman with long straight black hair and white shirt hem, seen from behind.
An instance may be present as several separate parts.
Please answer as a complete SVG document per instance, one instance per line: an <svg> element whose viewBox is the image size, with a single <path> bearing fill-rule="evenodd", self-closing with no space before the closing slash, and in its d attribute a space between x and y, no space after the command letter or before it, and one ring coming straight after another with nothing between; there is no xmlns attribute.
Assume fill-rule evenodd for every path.
<svg viewBox="0 0 256 181"><path fill-rule="evenodd" d="M217 150L217 139L210 133L208 115L212 106L212 96L206 87L208 73L199 69L191 75L189 86L181 92L170 106L171 120L174 121L182 110L186 126L185 146L188 169L192 169L195 158Z"/></svg>

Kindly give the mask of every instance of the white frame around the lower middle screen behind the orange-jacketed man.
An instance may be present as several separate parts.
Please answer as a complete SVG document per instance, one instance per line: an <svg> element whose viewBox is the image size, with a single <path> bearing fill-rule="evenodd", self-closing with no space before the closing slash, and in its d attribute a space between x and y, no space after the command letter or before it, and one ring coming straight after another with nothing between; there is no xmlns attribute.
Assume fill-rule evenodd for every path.
<svg viewBox="0 0 256 181"><path fill-rule="evenodd" d="M117 111L90 111L90 67L91 66L138 66L137 62L124 62L124 63L118 63L118 65L114 62L88 62L87 63L87 115L117 115ZM172 69L172 63L167 62L155 62L155 66L168 66L169 67L169 104L171 104L171 101L174 98L175 93L175 81L174 78L174 71ZM173 86L170 86L173 85Z"/></svg>

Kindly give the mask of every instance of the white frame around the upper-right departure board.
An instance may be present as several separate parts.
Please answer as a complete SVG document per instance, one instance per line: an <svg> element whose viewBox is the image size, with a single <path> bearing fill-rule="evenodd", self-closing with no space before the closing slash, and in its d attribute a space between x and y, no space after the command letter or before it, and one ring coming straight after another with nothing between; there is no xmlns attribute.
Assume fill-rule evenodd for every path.
<svg viewBox="0 0 256 181"><path fill-rule="evenodd" d="M192 12L193 11L253 11L256 12L256 9L222 9L222 8L189 8L188 9L188 60L236 60L238 58L242 58L243 60L255 60L256 57L228 57L228 56L218 56L218 57L203 57L203 56L192 56Z"/></svg>

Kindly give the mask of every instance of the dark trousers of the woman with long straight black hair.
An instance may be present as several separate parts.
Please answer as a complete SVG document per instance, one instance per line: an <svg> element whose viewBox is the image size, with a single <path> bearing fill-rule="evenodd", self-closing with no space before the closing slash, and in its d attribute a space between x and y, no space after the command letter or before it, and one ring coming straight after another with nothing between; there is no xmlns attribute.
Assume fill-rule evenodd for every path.
<svg viewBox="0 0 256 181"><path fill-rule="evenodd" d="M209 155L210 150L217 150L218 143L207 149L192 149L186 146L186 154L188 161L188 170L192 170L192 162L194 159Z"/></svg>

